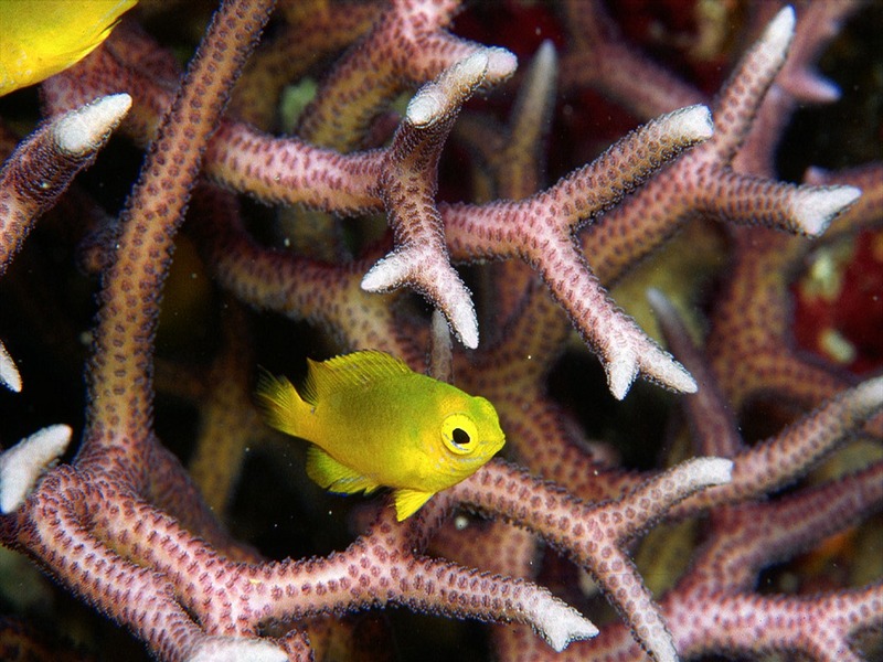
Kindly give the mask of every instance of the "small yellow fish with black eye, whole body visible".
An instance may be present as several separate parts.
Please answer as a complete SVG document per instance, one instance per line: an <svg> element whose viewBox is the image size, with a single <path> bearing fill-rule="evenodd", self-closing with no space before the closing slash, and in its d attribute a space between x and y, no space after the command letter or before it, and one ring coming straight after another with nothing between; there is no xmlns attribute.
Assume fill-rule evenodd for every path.
<svg viewBox="0 0 883 662"><path fill-rule="evenodd" d="M332 492L393 489L398 521L475 473L506 442L483 397L412 371L372 350L308 360L301 393L263 374L267 423L311 441L307 474Z"/></svg>

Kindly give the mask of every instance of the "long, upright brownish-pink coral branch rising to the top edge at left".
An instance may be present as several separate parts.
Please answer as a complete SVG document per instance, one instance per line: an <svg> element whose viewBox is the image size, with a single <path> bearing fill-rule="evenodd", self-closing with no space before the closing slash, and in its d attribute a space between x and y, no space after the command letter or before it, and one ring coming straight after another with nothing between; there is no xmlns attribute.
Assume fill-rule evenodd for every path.
<svg viewBox="0 0 883 662"><path fill-rule="evenodd" d="M119 453L149 452L145 430L151 427L152 337L172 238L230 87L270 7L272 2L247 9L231 3L215 17L120 218L119 258L104 278L104 307L95 333L89 429L81 449L84 466L119 462L117 470L130 474L131 467ZM230 46L225 38L233 40ZM127 388L132 382L141 385L134 393ZM117 428L128 435L119 435ZM131 479L143 484L143 478Z"/></svg>

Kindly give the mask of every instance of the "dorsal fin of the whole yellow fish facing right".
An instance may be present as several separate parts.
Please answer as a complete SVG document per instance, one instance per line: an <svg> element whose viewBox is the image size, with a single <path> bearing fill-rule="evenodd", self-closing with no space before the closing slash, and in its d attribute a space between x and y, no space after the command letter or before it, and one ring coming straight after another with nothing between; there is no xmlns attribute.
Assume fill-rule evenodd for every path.
<svg viewBox="0 0 883 662"><path fill-rule="evenodd" d="M343 388L364 388L380 380L413 373L404 361L376 350L341 354L321 362L307 359L307 365L302 395L312 405L329 393Z"/></svg>

